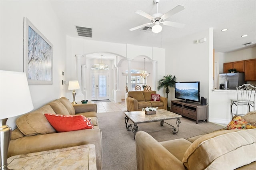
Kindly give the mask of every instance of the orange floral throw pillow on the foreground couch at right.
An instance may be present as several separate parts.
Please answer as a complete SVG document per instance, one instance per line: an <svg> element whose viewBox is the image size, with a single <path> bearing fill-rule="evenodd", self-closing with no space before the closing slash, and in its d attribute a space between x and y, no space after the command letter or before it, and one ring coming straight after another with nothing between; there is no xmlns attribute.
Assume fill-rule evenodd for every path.
<svg viewBox="0 0 256 170"><path fill-rule="evenodd" d="M241 116L234 118L225 129L245 129L245 128L256 128L252 124L246 122Z"/></svg>

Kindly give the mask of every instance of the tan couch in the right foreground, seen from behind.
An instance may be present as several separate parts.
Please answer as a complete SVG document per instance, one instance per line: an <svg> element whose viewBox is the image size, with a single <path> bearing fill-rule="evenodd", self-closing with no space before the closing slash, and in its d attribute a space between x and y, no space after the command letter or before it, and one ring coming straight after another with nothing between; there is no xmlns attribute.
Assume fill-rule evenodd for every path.
<svg viewBox="0 0 256 170"><path fill-rule="evenodd" d="M137 170L255 170L256 128L156 141L136 133Z"/></svg>

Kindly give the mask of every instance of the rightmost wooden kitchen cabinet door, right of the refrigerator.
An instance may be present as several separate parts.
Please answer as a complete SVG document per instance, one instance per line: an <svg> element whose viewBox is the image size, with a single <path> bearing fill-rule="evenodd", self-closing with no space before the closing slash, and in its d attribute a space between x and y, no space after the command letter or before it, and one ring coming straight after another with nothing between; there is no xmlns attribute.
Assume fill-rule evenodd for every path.
<svg viewBox="0 0 256 170"><path fill-rule="evenodd" d="M256 81L256 59L244 60L244 80Z"/></svg>

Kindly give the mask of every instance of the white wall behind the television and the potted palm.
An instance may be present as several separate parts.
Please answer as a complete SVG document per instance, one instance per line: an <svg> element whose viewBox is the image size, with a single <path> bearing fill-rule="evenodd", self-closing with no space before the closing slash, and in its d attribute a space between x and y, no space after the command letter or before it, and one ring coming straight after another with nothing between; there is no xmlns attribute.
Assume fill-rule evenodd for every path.
<svg viewBox="0 0 256 170"><path fill-rule="evenodd" d="M194 43L194 40L201 38L206 38L206 42ZM200 81L200 96L209 102L209 88L212 88L212 28L168 44L165 50L165 75L175 75L176 81ZM171 88L168 99L170 106L170 101L174 99L174 88Z"/></svg>

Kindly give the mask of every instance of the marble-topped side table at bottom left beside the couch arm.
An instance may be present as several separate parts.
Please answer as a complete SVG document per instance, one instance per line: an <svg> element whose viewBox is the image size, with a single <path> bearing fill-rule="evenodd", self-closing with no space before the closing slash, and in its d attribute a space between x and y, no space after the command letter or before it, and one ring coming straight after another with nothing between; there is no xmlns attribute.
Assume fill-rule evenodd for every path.
<svg viewBox="0 0 256 170"><path fill-rule="evenodd" d="M94 144L15 155L8 158L7 163L13 170L97 169Z"/></svg>

